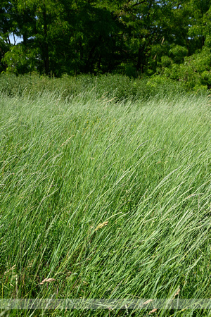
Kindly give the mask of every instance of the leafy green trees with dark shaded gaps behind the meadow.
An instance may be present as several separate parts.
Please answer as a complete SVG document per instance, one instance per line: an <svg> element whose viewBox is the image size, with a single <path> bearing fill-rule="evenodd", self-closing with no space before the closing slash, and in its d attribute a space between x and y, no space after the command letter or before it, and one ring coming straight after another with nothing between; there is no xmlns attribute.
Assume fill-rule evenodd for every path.
<svg viewBox="0 0 211 317"><path fill-rule="evenodd" d="M209 0L1 1L1 72L183 80L193 70L209 85L210 48Z"/></svg>

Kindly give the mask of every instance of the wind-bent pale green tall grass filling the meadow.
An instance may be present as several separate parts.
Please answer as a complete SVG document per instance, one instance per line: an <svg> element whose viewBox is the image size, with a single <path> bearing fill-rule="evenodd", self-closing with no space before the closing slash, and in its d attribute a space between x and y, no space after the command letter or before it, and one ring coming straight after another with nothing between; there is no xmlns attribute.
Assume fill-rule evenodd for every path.
<svg viewBox="0 0 211 317"><path fill-rule="evenodd" d="M2 94L1 298L210 298L210 106L181 94Z"/></svg>

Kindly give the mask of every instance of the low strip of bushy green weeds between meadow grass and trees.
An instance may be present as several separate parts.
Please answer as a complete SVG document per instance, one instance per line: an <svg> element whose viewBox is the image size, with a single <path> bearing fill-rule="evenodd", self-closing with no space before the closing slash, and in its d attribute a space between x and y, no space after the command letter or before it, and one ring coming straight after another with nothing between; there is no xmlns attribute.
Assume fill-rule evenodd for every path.
<svg viewBox="0 0 211 317"><path fill-rule="evenodd" d="M162 76L146 79L129 78L119 74L106 75L63 75L53 76L1 74L0 91L8 97L30 97L37 99L42 94L53 94L63 100L81 94L93 94L95 98L113 99L115 102L127 100L147 100L151 97L175 96L184 94L181 82L174 82Z"/></svg>

